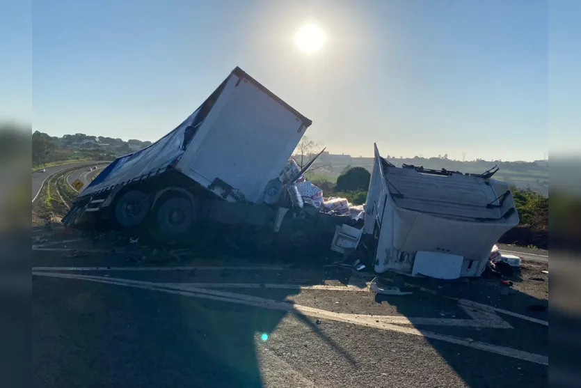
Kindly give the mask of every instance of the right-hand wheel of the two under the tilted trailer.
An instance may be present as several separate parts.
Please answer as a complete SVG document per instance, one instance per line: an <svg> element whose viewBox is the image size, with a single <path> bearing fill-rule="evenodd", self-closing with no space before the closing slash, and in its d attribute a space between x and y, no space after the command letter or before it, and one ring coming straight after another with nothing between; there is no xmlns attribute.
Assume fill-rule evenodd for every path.
<svg viewBox="0 0 581 388"><path fill-rule="evenodd" d="M177 237L193 225L193 204L189 199L170 197L157 208L157 227L168 237Z"/></svg>

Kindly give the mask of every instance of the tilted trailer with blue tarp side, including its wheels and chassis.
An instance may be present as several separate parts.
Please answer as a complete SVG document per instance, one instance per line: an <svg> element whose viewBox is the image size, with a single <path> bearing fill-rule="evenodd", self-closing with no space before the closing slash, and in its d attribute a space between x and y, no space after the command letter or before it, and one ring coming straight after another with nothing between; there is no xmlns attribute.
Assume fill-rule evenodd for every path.
<svg viewBox="0 0 581 388"><path fill-rule="evenodd" d="M276 233L293 207L278 177L311 123L235 68L175 130L109 164L63 224L147 231L162 242L209 223Z"/></svg>

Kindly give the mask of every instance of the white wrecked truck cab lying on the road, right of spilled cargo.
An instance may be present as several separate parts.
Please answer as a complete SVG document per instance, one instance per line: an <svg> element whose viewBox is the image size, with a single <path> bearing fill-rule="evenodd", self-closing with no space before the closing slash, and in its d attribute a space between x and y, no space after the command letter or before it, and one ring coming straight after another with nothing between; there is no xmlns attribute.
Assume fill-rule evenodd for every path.
<svg viewBox="0 0 581 388"><path fill-rule="evenodd" d="M518 225L518 212L498 171L397 167L375 158L361 245L374 271L438 279L479 277L491 248Z"/></svg>

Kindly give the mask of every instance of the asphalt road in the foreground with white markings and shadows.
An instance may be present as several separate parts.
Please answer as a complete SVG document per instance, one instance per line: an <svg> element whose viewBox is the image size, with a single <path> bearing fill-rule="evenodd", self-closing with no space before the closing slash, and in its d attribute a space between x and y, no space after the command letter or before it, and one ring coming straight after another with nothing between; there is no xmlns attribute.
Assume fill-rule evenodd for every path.
<svg viewBox="0 0 581 388"><path fill-rule="evenodd" d="M548 312L527 309L548 306L546 263L509 293L385 296L344 268L137 245L33 231L34 387L547 386Z"/></svg>

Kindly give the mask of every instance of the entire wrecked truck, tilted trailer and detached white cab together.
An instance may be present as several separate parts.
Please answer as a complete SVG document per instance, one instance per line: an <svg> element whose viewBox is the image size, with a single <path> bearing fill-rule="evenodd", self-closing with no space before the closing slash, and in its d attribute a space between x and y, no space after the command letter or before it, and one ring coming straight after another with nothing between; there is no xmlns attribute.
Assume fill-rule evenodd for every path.
<svg viewBox="0 0 581 388"><path fill-rule="evenodd" d="M234 237L237 249L293 260L331 249L378 273L440 279L480 276L495 242L518 224L495 171L396 167L376 147L364 212L346 199L314 201L308 192L321 190L303 178L313 160L303 169L289 160L311 123L235 68L175 130L109 164L63 224L161 243Z"/></svg>

